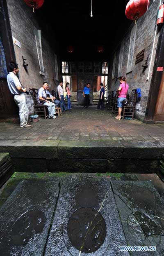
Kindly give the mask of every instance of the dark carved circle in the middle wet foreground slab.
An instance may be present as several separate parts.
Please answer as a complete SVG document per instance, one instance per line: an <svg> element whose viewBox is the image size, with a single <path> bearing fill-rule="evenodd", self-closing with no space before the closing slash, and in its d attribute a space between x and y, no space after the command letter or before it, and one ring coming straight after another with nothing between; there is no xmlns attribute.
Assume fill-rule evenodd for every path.
<svg viewBox="0 0 164 256"><path fill-rule="evenodd" d="M106 224L98 211L83 207L71 215L67 231L76 249L85 253L95 252L105 240Z"/></svg>

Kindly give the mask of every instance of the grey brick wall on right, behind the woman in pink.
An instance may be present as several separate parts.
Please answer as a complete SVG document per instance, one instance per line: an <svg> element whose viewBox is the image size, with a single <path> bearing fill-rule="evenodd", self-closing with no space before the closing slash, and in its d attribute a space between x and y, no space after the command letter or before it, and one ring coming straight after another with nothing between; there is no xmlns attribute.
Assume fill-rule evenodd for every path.
<svg viewBox="0 0 164 256"><path fill-rule="evenodd" d="M126 74L127 63L128 63L128 52L129 52L129 44L130 44L130 33L132 26L128 29L127 33L124 37L124 53L123 53L123 66L122 66L122 75L127 78L127 82L129 84L129 93L132 89L141 88L142 98L139 104L136 105L135 116L138 119L143 120L145 117L146 106L148 101L148 94L150 89L150 82L153 72L153 65L155 60L155 53L157 47L157 40L159 31L157 30L157 35L155 39L155 48L153 52L153 61L151 64L150 69L150 79L147 81L148 77L148 69L150 66L150 58L153 48L153 41L155 36L155 20L157 16L157 10L159 8L159 1L150 0L150 6L148 8L148 12L144 14L139 20L137 21L137 33L136 33L136 41L134 47L134 57L132 63L132 72ZM118 47L116 48L116 68L115 68L115 78L118 78L118 59L119 59L119 51L120 51L120 43L118 43ZM143 73L142 65L145 64L144 60L135 64L136 55L145 49L144 60L148 57L148 68L146 68L145 72ZM113 67L113 59L111 61L111 68L110 68L110 75L109 75L109 85L110 91L116 90L119 87L119 79L112 80L112 67Z"/></svg>

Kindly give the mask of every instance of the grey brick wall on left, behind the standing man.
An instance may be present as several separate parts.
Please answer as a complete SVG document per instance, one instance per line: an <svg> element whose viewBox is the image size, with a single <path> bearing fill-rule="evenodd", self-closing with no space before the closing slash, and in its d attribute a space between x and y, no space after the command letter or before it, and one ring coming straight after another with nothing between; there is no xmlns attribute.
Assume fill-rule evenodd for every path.
<svg viewBox="0 0 164 256"><path fill-rule="evenodd" d="M48 37L46 33L43 32L41 25L36 18L36 14L32 12L32 8L28 7L23 0L7 0L7 6L12 36L21 42L21 48L14 44L21 83L27 89L29 87L39 89L42 86L43 81L47 81L50 84L51 89L56 90L57 84L53 81L53 77L55 78L54 53L58 56L58 51L52 47L52 45L55 45L55 42L50 41L51 36ZM40 68L36 50L34 28L41 29L45 76L41 76L39 74ZM27 59L27 72L23 68L22 56ZM33 113L32 97L29 95L26 96L26 99L30 113Z"/></svg>

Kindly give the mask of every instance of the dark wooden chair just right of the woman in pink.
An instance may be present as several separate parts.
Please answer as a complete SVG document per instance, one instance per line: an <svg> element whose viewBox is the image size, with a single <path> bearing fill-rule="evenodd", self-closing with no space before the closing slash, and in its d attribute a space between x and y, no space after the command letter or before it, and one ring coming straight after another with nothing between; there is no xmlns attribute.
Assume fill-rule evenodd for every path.
<svg viewBox="0 0 164 256"><path fill-rule="evenodd" d="M127 106L123 106L123 111L121 114L121 117L124 119L124 117L131 117L134 119L134 110L136 107L136 101L137 101L137 89L132 90L129 99L126 101Z"/></svg>

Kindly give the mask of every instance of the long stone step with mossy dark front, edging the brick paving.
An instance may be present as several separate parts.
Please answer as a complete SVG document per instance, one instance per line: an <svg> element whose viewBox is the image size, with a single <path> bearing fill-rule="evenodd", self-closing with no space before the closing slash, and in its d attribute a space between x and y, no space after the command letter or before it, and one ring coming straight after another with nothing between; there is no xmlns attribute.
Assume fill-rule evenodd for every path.
<svg viewBox="0 0 164 256"><path fill-rule="evenodd" d="M0 141L14 171L155 173L164 154L160 141Z"/></svg>

